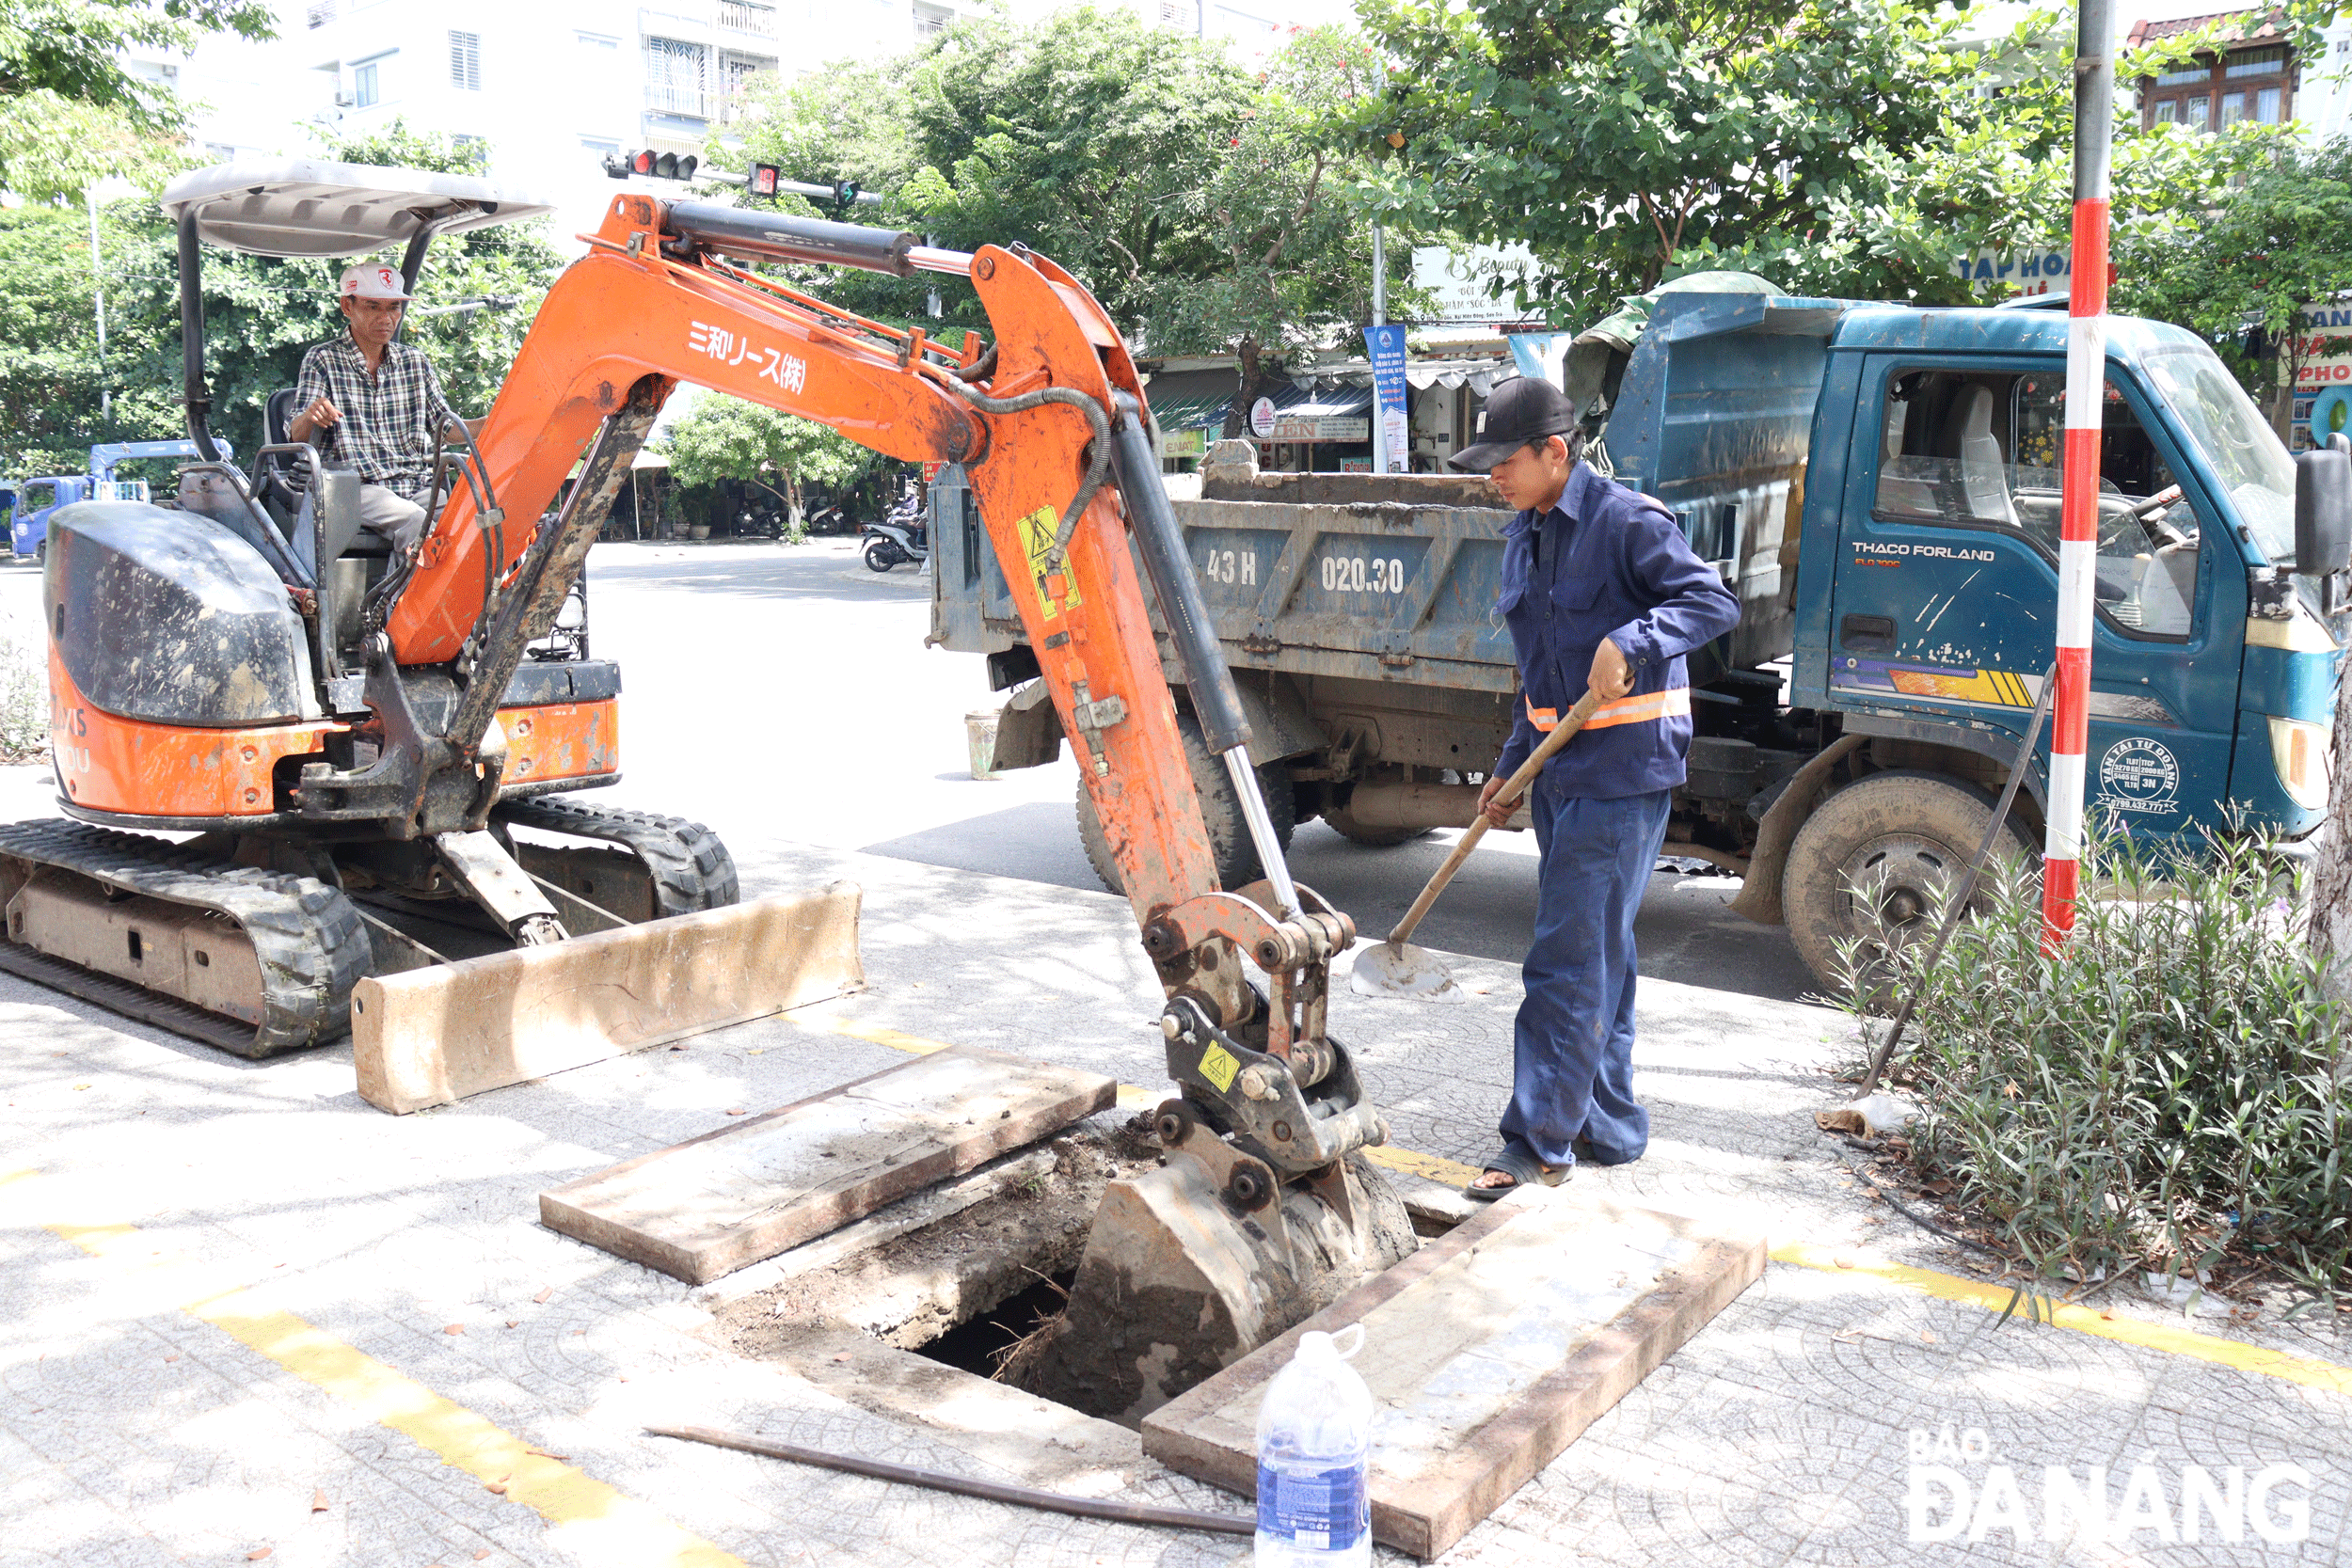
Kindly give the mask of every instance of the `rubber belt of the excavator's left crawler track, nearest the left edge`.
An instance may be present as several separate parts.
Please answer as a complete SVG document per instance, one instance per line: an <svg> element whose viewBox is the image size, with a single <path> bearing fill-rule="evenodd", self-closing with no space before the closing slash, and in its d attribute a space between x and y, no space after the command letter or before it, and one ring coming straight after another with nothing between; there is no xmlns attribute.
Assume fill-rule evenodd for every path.
<svg viewBox="0 0 2352 1568"><path fill-rule="evenodd" d="M238 1056L299 1051L350 1027L350 987L372 961L367 926L315 877L226 865L169 839L61 818L0 823L0 856L233 919L261 959L261 1027L249 1046L226 1046Z"/></svg>

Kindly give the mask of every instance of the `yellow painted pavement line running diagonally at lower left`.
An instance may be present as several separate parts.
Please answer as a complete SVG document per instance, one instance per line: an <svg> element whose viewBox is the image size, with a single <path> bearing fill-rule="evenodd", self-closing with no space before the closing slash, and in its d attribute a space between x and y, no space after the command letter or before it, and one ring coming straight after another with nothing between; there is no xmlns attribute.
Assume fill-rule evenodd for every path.
<svg viewBox="0 0 2352 1568"><path fill-rule="evenodd" d="M40 1175L9 1171L0 1187ZM21 1194L9 1194L19 1199ZM529 1443L442 1399L414 1378L343 1345L332 1333L280 1312L254 1291L221 1284L223 1274L181 1255L158 1255L136 1225L73 1225L49 1220L42 1229L64 1237L92 1258L120 1265L125 1272L153 1276L165 1286L158 1307L172 1305L188 1316L219 1328L303 1382L334 1394L376 1425L390 1427L463 1469L482 1486L503 1486L508 1502L520 1502L546 1519L553 1540L590 1563L614 1568L746 1568L746 1563L701 1535L670 1523L656 1509L614 1490L576 1465L534 1453Z"/></svg>

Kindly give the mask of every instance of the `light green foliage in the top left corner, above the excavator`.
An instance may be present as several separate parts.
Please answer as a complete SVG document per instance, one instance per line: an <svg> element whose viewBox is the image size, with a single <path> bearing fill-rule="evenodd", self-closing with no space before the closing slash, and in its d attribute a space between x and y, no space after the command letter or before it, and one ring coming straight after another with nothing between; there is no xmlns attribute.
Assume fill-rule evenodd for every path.
<svg viewBox="0 0 2352 1568"><path fill-rule="evenodd" d="M108 174L160 186L186 165L188 110L122 52L193 49L207 33L273 38L261 0L0 0L0 188L80 197Z"/></svg>

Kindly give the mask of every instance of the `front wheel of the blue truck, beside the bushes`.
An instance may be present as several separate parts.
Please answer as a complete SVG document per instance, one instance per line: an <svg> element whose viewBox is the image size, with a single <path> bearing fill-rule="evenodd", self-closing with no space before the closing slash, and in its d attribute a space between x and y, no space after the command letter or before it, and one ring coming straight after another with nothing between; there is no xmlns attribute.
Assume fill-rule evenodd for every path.
<svg viewBox="0 0 2352 1568"><path fill-rule="evenodd" d="M1940 889L1969 875L1969 856L1990 825L1992 802L1973 785L1938 773L1872 773L1820 802L1797 830L1780 877L1788 933L1813 978L1830 994L1844 994L1842 940L1886 943L1931 933ZM2032 858L2013 818L1992 853ZM1884 882L1872 910L1851 889L1877 879ZM1983 912L1983 891L1971 907Z"/></svg>

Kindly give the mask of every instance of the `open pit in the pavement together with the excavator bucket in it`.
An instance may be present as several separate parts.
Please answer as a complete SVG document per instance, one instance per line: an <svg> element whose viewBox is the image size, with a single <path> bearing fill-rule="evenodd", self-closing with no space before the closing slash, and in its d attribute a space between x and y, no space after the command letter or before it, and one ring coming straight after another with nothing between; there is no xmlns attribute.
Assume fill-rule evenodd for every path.
<svg viewBox="0 0 2352 1568"><path fill-rule="evenodd" d="M877 1361L840 1342L856 1331L938 1375L974 1373L1136 1429L1251 1349L1247 1328L1296 1324L1416 1246L1406 1206L1362 1157L1251 1201L1188 1135L1197 1128L1155 1133L1152 1117L1082 1121L903 1199L913 1208L896 1220L877 1211L781 1255L786 1279L722 1307L715 1333L807 1371L823 1335L830 1361ZM1145 1178L1162 1166L1160 1138L1178 1152ZM1117 1232L1089 1255L1105 1222Z"/></svg>

